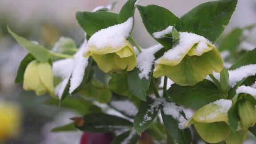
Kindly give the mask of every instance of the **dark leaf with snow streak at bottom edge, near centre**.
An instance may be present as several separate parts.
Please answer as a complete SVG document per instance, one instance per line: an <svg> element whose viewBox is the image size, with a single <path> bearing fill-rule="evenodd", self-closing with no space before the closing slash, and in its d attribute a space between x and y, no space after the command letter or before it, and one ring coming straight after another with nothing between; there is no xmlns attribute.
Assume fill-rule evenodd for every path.
<svg viewBox="0 0 256 144"><path fill-rule="evenodd" d="M111 144L137 144L139 136L134 130L124 132L115 137Z"/></svg>

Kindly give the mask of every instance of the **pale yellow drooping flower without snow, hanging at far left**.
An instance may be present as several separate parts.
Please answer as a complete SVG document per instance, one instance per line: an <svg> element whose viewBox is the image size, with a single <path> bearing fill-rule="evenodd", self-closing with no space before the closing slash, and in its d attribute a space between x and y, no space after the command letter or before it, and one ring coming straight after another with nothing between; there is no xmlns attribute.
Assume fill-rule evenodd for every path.
<svg viewBox="0 0 256 144"><path fill-rule="evenodd" d="M23 88L25 91L35 91L40 96L48 92L54 95L52 66L37 60L30 62L24 72Z"/></svg>

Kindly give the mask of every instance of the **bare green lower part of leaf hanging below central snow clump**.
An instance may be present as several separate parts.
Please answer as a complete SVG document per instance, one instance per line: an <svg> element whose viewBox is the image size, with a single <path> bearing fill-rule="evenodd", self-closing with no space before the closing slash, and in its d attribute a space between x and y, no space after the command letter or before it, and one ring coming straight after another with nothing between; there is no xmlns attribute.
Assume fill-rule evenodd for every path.
<svg viewBox="0 0 256 144"><path fill-rule="evenodd" d="M134 68L128 72L128 86L133 95L137 96L140 100L147 101L146 91L148 90L153 70L148 74L148 80L146 78L140 79L139 68Z"/></svg>

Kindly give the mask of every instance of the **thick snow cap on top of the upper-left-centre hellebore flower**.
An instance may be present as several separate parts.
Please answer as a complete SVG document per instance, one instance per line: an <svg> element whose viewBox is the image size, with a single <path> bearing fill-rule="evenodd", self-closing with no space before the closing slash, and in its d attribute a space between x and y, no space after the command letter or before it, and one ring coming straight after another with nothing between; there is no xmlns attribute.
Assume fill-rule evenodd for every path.
<svg viewBox="0 0 256 144"><path fill-rule="evenodd" d="M96 47L97 49L124 47L126 46L125 40L132 30L132 25L133 17L130 17L122 24L101 29L88 40L87 47Z"/></svg>

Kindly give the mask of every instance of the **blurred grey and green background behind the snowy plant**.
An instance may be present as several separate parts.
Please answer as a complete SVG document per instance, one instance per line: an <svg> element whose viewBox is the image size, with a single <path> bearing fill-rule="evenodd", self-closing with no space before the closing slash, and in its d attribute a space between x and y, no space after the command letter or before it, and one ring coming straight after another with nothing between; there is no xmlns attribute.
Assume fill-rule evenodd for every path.
<svg viewBox="0 0 256 144"><path fill-rule="evenodd" d="M157 4L168 8L176 16L182 16L206 1L209 0L142 0L140 5ZM84 39L84 32L76 22L76 11L92 11L99 5L106 6L112 2L114 0L0 0L0 101L15 105L21 114L20 135L10 140L10 144L79 144L82 133L50 132L56 126L67 124L68 118L78 114L68 109L40 104L48 96L38 97L34 92L24 92L22 85L14 83L17 68L27 52L8 34L6 25L20 36L38 41L47 48L52 48L60 36L71 37L80 44ZM113 12L118 13L125 2L126 0L118 1ZM239 0L236 11L217 44L221 45L221 40L234 29L254 24L256 0ZM138 11L132 35L143 48L157 44L144 28ZM244 43L241 42L237 47L243 47L244 50L255 48L256 28L250 27L244 31L244 36ZM223 56L226 56L225 52L222 52ZM227 61L226 66L233 61ZM255 139L249 138L246 143L255 144Z"/></svg>

